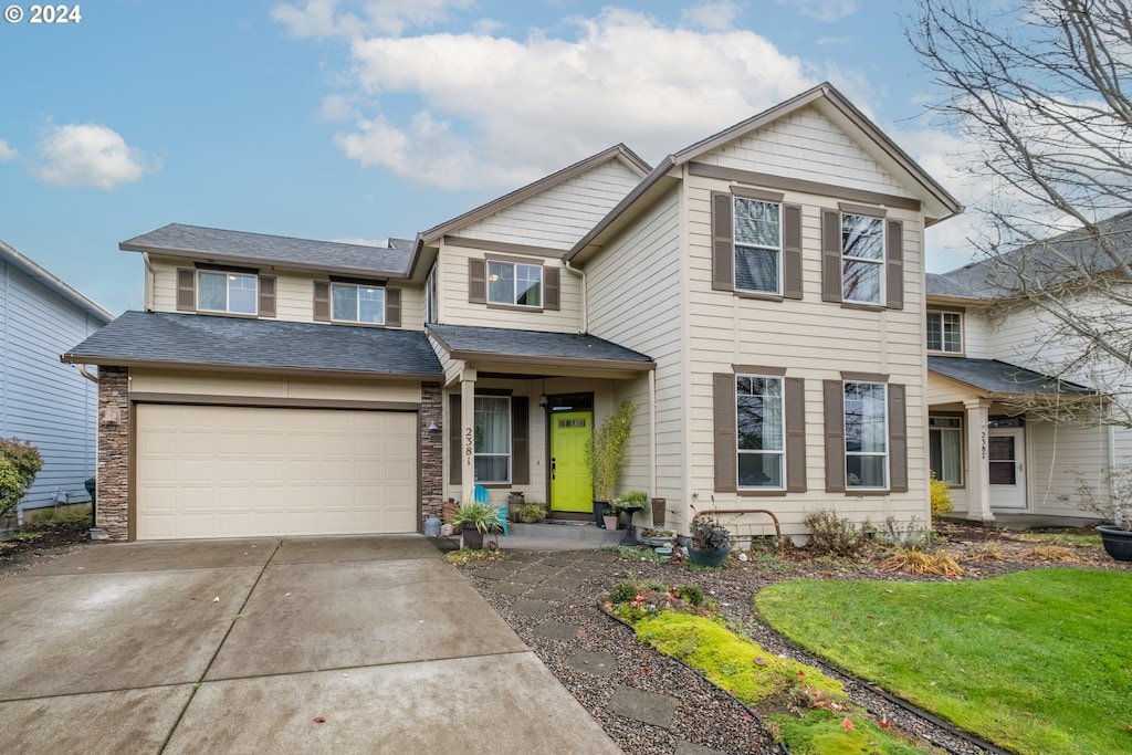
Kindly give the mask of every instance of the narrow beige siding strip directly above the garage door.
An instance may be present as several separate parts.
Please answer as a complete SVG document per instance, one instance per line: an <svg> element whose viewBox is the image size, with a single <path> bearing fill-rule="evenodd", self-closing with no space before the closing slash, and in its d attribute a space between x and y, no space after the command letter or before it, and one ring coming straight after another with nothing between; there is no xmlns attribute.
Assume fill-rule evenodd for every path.
<svg viewBox="0 0 1132 755"><path fill-rule="evenodd" d="M420 403L420 383L131 369L130 393Z"/></svg>

